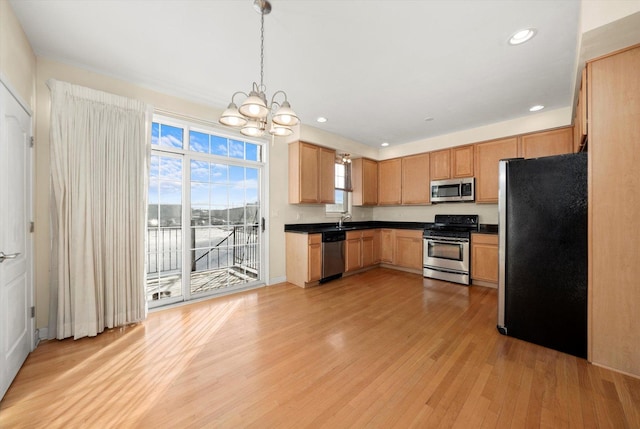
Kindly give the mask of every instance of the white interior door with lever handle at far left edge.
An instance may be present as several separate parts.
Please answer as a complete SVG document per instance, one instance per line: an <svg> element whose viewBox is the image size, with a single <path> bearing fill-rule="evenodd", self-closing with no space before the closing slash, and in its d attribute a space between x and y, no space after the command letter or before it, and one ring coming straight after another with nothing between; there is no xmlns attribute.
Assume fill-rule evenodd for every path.
<svg viewBox="0 0 640 429"><path fill-rule="evenodd" d="M31 117L0 83L0 399L32 350Z"/></svg>

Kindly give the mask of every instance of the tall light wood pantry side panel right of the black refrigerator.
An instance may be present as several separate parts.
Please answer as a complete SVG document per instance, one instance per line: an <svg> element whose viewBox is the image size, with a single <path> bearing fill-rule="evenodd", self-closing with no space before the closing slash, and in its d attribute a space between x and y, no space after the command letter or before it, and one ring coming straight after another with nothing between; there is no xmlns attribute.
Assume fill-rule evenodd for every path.
<svg viewBox="0 0 640 429"><path fill-rule="evenodd" d="M636 377L640 377L638 70L640 45L587 64L589 360Z"/></svg>

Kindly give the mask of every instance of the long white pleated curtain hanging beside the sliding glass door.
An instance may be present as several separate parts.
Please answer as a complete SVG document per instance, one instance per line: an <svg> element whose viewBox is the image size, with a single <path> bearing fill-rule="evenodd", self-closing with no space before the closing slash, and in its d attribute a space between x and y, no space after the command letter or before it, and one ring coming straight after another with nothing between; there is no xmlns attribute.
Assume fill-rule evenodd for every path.
<svg viewBox="0 0 640 429"><path fill-rule="evenodd" d="M146 316L145 103L49 80L50 338L95 336Z"/></svg>

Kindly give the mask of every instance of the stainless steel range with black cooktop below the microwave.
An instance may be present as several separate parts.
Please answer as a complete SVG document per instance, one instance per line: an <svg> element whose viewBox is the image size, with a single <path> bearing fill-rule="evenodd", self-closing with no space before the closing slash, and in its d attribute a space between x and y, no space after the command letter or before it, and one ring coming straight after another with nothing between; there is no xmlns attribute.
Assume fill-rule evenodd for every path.
<svg viewBox="0 0 640 429"><path fill-rule="evenodd" d="M478 215L436 215L422 235L424 277L468 285L471 233L478 226Z"/></svg>

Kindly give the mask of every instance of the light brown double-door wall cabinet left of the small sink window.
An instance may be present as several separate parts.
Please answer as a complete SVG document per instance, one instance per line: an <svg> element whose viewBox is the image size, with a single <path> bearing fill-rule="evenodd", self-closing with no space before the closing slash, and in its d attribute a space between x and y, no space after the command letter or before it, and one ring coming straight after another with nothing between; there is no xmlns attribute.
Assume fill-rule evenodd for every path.
<svg viewBox="0 0 640 429"><path fill-rule="evenodd" d="M305 142L289 144L289 204L335 202L336 151Z"/></svg>

